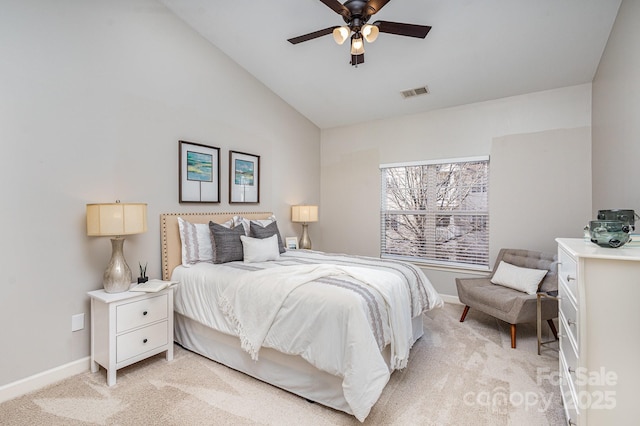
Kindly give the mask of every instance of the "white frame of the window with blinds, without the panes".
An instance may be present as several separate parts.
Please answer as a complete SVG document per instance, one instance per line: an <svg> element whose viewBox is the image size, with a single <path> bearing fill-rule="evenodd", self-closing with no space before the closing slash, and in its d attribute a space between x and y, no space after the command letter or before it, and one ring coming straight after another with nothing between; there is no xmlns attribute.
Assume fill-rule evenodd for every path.
<svg viewBox="0 0 640 426"><path fill-rule="evenodd" d="M484 192L486 193L485 198L485 205L483 207L483 209L476 209L476 210L467 210L467 209L459 209L459 210L438 210L437 207L436 208L427 208L427 209L421 209L421 210L409 210L409 209L390 209L387 206L387 173L386 173L386 169L391 169L391 168L409 168L409 167L420 167L420 166L438 166L438 165L443 165L443 164L460 164L460 163L477 163L477 162L485 162L486 163L486 175L484 176L485 180L483 182L481 182L481 185L483 186L483 190L480 192ZM461 270L467 270L467 271L489 271L491 266L489 264L490 259L490 252L489 252L489 225L490 225L490 214L489 214L489 174L490 174L490 157L488 155L486 156L475 156L475 157L460 157L460 158L443 158L443 159L436 159L436 160L427 160L427 161L411 161L411 162L401 162L401 163L385 163L385 164L380 164L379 168L380 168L380 257L381 258L390 258L390 259L398 259L398 260L404 260L404 261L408 261L408 262L412 262L412 263L416 263L420 266L424 266L424 267L429 267L429 268L434 268L434 269L444 269L444 270L449 270L449 269L461 269ZM431 198L433 198L435 192L438 185L437 185L437 177L435 179L430 179L428 180L429 182L429 186L431 186L430 189L428 189L428 191L431 191L430 196ZM435 187L435 188L434 188ZM473 189L470 189L471 192L474 192ZM466 199L463 198L462 200L464 201ZM429 204L429 202L427 202L427 204ZM481 235L482 237L484 237L485 241L486 241L486 245L482 245L482 243L478 244L477 247L483 248L482 250L482 254L484 255L484 263L468 263L468 262L456 262L453 260L440 260L437 259L436 256L439 253L437 250L437 232L438 232L438 225L437 223L437 216L438 213L440 212L440 216L447 216L446 212L447 211L451 211L452 214L450 214L449 216L456 216L456 217L461 217L461 216L474 216L476 218L482 217L484 216L486 219L484 219L484 224L483 226L485 227L483 234ZM442 213L445 213L444 215ZM412 256L412 255L401 255L401 254L397 254L397 253L389 253L386 249L387 247L387 243L389 241L389 238L386 234L387 231L387 224L391 223L390 222L390 218L389 215L425 215L426 218L431 217L432 219L432 225L430 226L430 230L428 230L427 232L432 232L433 236L434 236L434 241L432 244L432 248L431 250L433 251L433 256L426 256L426 253L429 251L429 249L424 248L425 253L421 253L421 255L419 256ZM446 225L448 227L448 225ZM421 244L424 245L424 242L422 242ZM428 245L428 244L427 244ZM426 247L426 246L425 246Z"/></svg>

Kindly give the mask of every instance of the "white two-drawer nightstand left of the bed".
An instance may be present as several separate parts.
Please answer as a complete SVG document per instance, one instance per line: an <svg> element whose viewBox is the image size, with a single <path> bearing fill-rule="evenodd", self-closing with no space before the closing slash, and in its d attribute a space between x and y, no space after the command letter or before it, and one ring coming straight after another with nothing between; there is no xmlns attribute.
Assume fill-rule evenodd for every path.
<svg viewBox="0 0 640 426"><path fill-rule="evenodd" d="M91 371L103 366L107 384L116 371L165 352L173 359L173 288L157 293L90 291Z"/></svg>

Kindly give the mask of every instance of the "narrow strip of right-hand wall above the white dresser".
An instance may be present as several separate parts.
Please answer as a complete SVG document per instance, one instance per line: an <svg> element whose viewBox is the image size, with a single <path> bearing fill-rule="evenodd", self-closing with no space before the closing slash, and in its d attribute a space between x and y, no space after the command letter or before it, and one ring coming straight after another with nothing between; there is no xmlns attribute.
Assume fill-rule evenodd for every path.
<svg viewBox="0 0 640 426"><path fill-rule="evenodd" d="M640 2L623 0L593 80L593 214L640 212Z"/></svg>

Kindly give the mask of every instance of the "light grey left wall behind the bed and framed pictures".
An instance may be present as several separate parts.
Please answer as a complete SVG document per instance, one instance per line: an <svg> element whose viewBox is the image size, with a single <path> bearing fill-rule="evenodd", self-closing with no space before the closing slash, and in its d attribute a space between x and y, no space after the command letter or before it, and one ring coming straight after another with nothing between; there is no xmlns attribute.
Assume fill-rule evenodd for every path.
<svg viewBox="0 0 640 426"><path fill-rule="evenodd" d="M89 355L111 245L86 236L86 203L148 203L125 256L156 277L161 212L274 211L296 235L290 204L320 200L320 131L153 0L0 9L2 386ZM178 204L180 139L221 148L221 204ZM261 156L259 205L228 204L230 149Z"/></svg>

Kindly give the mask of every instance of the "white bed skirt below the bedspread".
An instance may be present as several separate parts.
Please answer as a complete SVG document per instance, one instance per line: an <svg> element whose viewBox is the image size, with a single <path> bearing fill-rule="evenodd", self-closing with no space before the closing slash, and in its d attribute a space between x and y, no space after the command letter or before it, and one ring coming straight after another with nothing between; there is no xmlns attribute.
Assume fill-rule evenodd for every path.
<svg viewBox="0 0 640 426"><path fill-rule="evenodd" d="M423 334L422 315L412 320L413 339ZM342 378L318 370L302 357L270 348L260 349L253 361L240 347L240 339L220 333L183 315L174 314L174 340L186 349L241 371L256 379L327 407L353 414L342 391ZM389 347L383 352L389 363Z"/></svg>

